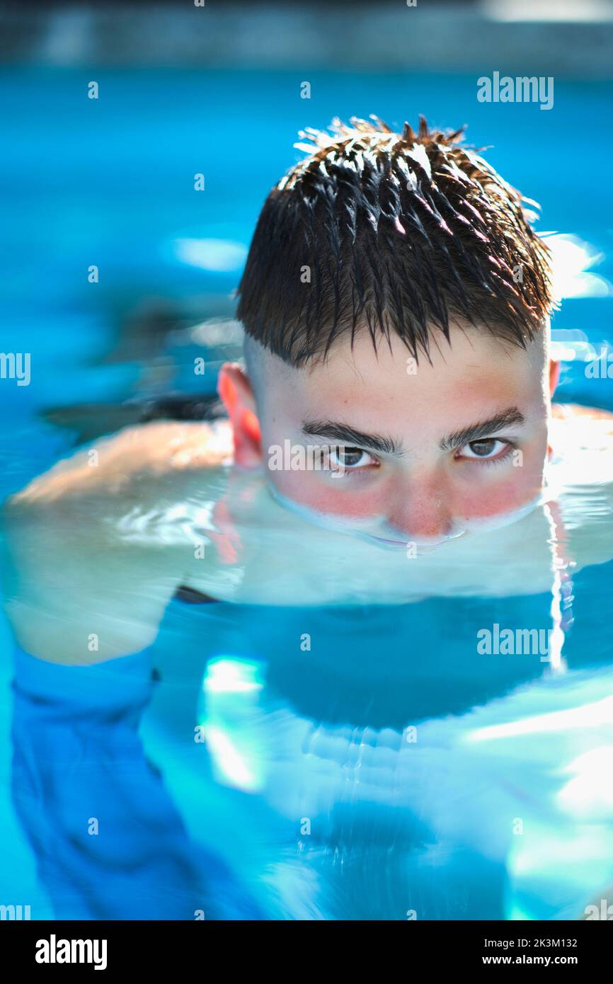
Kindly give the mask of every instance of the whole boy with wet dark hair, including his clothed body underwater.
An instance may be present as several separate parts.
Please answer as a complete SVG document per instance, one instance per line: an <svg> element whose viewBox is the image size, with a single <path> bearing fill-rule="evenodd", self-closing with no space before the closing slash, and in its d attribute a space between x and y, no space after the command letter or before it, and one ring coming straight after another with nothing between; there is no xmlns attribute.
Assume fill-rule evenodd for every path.
<svg viewBox="0 0 613 984"><path fill-rule="evenodd" d="M227 420L123 431L7 507L20 815L73 918L66 885L93 918L576 917L611 877L578 871L592 813L610 855L606 790L587 800L580 774L577 808L567 781L610 745L610 680L549 687L543 652L563 670L570 567L611 556L611 419L552 412L548 252L460 133L310 136L254 235ZM583 469L587 520L559 488ZM142 650L177 592L245 602L155 656L164 725L177 695L189 717L157 763L173 796L199 785L197 692L233 787L202 821L243 884L208 863L206 903L137 735ZM542 651L477 648L488 624L544 621Z"/></svg>

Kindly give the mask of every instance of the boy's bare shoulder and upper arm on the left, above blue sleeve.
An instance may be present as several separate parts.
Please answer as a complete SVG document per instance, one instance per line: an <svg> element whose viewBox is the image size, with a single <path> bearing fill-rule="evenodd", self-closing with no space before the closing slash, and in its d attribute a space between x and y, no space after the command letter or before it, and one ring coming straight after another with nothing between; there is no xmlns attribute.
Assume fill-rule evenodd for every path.
<svg viewBox="0 0 613 984"><path fill-rule="evenodd" d="M181 583L185 548L125 536L203 469L207 425L153 423L96 442L4 508L7 614L19 644L51 662L94 663L150 646ZM91 463L94 461L95 463Z"/></svg>

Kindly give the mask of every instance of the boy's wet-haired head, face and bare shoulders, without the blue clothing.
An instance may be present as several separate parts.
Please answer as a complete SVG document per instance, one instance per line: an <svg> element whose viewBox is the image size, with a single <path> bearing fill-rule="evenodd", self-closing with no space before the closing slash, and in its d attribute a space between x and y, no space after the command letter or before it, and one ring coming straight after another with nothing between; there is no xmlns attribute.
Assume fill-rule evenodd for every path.
<svg viewBox="0 0 613 984"><path fill-rule="evenodd" d="M8 611L32 654L139 651L180 585L320 604L550 584L547 468L572 421L587 450L610 425L552 419L549 256L521 195L423 118L309 137L255 231L227 420L123 431L10 501ZM597 534L565 549L610 556Z"/></svg>

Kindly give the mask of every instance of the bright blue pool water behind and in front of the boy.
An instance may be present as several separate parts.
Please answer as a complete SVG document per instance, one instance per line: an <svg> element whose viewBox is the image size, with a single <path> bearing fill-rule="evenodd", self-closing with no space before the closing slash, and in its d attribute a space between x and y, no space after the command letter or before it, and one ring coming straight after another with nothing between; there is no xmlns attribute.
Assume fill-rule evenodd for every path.
<svg viewBox="0 0 613 984"><path fill-rule="evenodd" d="M557 83L540 112L478 104L472 78L312 76L301 100L299 74L95 71L92 102L81 72L2 74L1 347L32 366L29 387L0 383L3 498L88 428L113 430L126 400L215 392L231 346L199 347L189 325L231 313L300 127L467 121L541 203L539 227L590 244L611 278L610 182L583 186L569 153L581 121L610 159L609 85ZM588 292L555 329L598 346L610 298ZM171 324L143 329L144 299ZM559 399L613 410L613 380L583 370L566 365ZM482 626L550 627L551 590L399 609L175 599L151 651L88 679L15 653L3 621L0 904L36 919L580 918L613 885L612 573L573 576L557 673L474 646Z"/></svg>

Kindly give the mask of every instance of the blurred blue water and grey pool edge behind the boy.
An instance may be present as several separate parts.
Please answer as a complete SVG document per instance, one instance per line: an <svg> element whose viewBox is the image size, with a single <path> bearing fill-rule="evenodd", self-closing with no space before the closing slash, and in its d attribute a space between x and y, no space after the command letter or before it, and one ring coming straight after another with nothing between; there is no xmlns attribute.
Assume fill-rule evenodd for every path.
<svg viewBox="0 0 613 984"><path fill-rule="evenodd" d="M609 0L46 0L2 5L0 38L0 349L31 353L29 386L0 379L3 494L78 442L206 410L264 198L334 116L467 124L558 233L561 399L613 408L582 362L611 337ZM495 71L552 77L552 108L479 102Z"/></svg>

